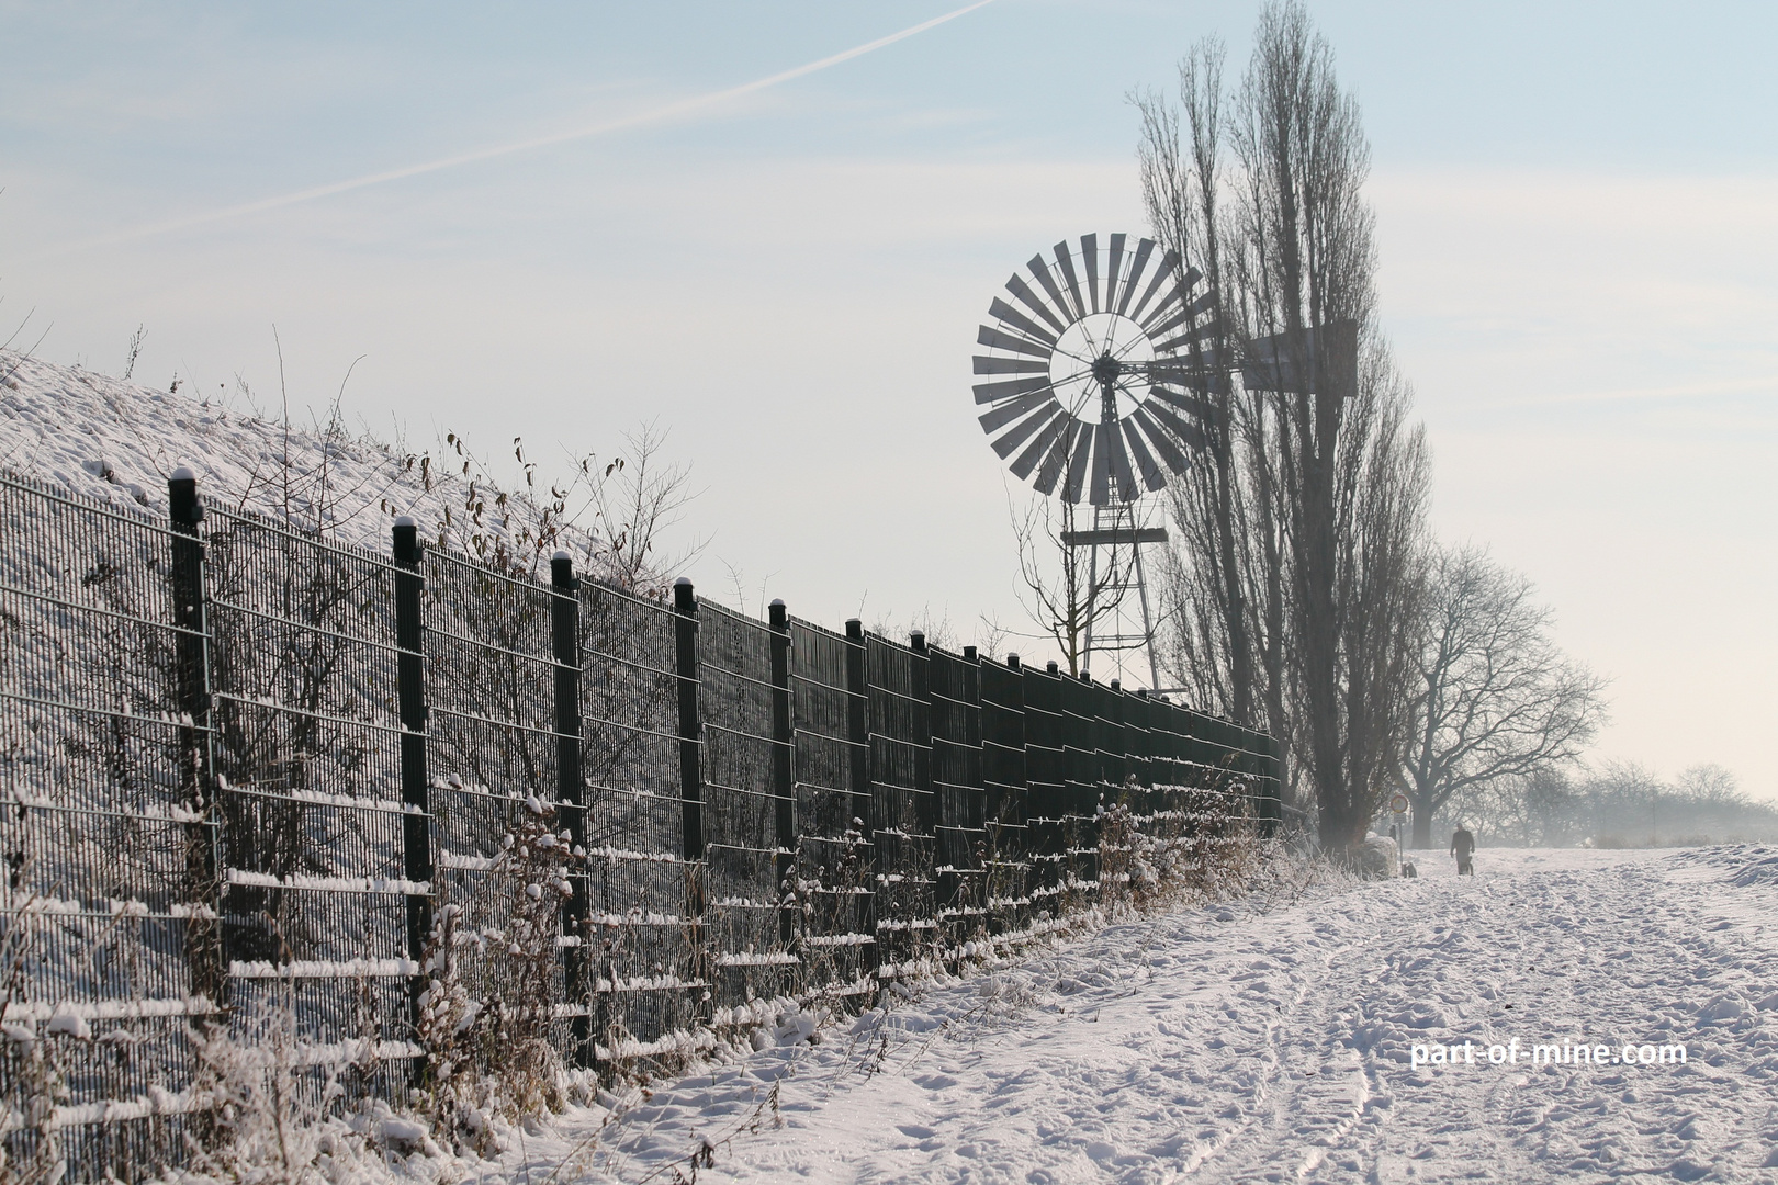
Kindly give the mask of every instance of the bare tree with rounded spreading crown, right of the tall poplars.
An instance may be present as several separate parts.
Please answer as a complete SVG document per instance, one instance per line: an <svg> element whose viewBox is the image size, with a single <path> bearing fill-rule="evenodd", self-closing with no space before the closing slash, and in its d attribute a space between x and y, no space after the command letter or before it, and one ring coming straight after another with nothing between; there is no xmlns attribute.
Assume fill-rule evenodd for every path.
<svg viewBox="0 0 1778 1185"><path fill-rule="evenodd" d="M1536 776L1593 739L1606 682L1568 661L1549 625L1531 581L1486 551L1435 553L1405 753L1415 847L1431 846L1433 812L1458 791L1515 780L1513 801L1531 803L1547 789ZM1534 812L1513 814L1526 821Z"/></svg>

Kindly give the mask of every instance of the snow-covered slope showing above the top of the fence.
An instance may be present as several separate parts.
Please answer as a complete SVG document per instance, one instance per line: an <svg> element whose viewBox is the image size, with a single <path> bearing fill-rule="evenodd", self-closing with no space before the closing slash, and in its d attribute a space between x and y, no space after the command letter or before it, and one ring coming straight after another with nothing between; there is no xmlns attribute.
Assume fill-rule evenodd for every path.
<svg viewBox="0 0 1778 1185"><path fill-rule="evenodd" d="M338 428L286 430L187 394L0 350L0 467L165 513L167 474L181 464L196 469L212 505L322 529L379 554L400 513L461 551L469 531L498 538L539 521L521 496L498 503L485 478L471 489L478 467L468 462L466 474L466 458L448 448L411 457ZM594 554L573 528L553 545Z"/></svg>

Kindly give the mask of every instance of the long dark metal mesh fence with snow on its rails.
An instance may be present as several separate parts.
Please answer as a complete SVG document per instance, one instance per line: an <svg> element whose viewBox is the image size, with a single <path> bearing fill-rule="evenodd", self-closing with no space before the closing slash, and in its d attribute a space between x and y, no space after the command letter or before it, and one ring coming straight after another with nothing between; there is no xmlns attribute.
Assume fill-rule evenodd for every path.
<svg viewBox="0 0 1778 1185"><path fill-rule="evenodd" d="M1277 817L1268 737L1054 666L169 492L0 473L14 1165L176 1158L268 1013L347 1098L638 1075Z"/></svg>

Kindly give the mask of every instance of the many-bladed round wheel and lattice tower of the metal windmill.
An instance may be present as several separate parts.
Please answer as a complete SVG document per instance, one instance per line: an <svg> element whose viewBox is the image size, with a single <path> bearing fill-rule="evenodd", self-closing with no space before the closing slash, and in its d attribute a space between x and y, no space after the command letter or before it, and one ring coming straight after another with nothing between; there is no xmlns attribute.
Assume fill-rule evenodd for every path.
<svg viewBox="0 0 1778 1185"><path fill-rule="evenodd" d="M1127 673L1147 652L1159 688L1154 616L1141 549L1166 540L1149 526L1141 496L1166 489L1204 448L1200 421L1216 414L1204 394L1227 389L1227 361L1209 348L1216 293L1197 268L1152 240L1083 235L1060 242L1006 281L1008 302L989 306L976 341L976 403L994 451L1040 494L1093 508L1090 531L1065 531L1065 547L1092 551L1085 663L1111 659ZM1134 595L1134 602L1131 600ZM1109 608L1108 608L1109 606ZM1095 616L1101 620L1095 622ZM1104 625L1109 625L1106 629Z"/></svg>

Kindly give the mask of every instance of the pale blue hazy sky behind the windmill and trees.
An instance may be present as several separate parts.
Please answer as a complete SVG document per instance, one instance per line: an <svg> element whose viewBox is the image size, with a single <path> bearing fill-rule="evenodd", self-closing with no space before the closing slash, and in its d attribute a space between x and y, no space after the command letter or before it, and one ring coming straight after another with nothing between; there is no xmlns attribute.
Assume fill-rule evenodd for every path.
<svg viewBox="0 0 1778 1185"><path fill-rule="evenodd" d="M720 561L837 622L1013 622L976 320L1037 249L1140 231L1125 94L1255 4L996 0L821 73L313 203L133 227L601 124L951 4L0 4L0 311L52 361L610 449L640 418ZM1385 325L1438 529L1613 675L1600 753L1764 739L1778 581L1766 4L1312 4L1374 151ZM82 243L87 243L82 247ZM92 245L98 243L98 245ZM1026 647L1029 650L1031 647Z"/></svg>

